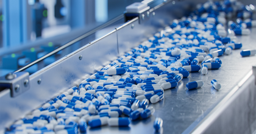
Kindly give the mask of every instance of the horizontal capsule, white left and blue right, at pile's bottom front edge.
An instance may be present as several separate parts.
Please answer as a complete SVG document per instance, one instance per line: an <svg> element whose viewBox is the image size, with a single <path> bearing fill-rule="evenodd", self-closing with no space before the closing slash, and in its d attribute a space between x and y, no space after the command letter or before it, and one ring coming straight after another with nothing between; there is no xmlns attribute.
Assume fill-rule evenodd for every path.
<svg viewBox="0 0 256 134"><path fill-rule="evenodd" d="M130 124L129 118L109 118L108 125L111 127L127 127Z"/></svg>

